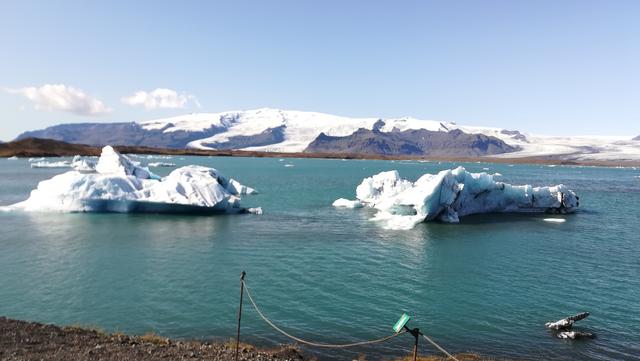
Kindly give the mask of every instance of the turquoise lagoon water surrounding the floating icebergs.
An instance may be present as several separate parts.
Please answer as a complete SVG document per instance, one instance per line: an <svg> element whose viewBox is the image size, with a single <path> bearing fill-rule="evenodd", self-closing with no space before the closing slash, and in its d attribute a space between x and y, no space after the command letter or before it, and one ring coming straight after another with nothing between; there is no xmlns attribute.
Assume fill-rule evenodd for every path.
<svg viewBox="0 0 640 361"><path fill-rule="evenodd" d="M157 161L157 160L155 160ZM564 183L581 211L565 223L542 215L472 216L461 224L388 231L368 209L334 209L363 177L397 169L416 179L451 163L320 159L174 158L213 166L256 187L246 206L262 216L25 214L0 212L0 315L153 331L176 338L235 335L239 275L263 311L289 332L341 343L409 325L451 352L519 359L640 358L640 171L464 164L510 183ZM284 164L294 167L284 167ZM0 205L25 199L64 170L0 159ZM160 169L166 174L170 169ZM544 323L581 311L592 340L553 337ZM243 340L288 342L245 303ZM320 359L410 351L412 339ZM422 353L435 354L421 346ZM371 354L374 353L375 355Z"/></svg>

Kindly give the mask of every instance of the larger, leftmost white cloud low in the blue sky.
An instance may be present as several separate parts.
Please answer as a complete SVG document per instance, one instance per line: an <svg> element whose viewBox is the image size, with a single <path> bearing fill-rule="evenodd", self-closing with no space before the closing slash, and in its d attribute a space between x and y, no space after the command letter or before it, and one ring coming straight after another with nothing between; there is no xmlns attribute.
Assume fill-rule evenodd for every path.
<svg viewBox="0 0 640 361"><path fill-rule="evenodd" d="M5 88L11 94L29 99L38 110L69 112L76 115L103 115L111 113L102 101L81 89L64 84L45 84L39 87Z"/></svg>

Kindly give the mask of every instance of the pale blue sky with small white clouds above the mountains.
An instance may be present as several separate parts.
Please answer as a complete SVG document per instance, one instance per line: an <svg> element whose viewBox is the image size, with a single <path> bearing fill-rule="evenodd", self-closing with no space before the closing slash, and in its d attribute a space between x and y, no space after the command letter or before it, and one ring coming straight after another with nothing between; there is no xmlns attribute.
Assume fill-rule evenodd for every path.
<svg viewBox="0 0 640 361"><path fill-rule="evenodd" d="M0 3L0 140L262 107L640 134L640 1Z"/></svg>

